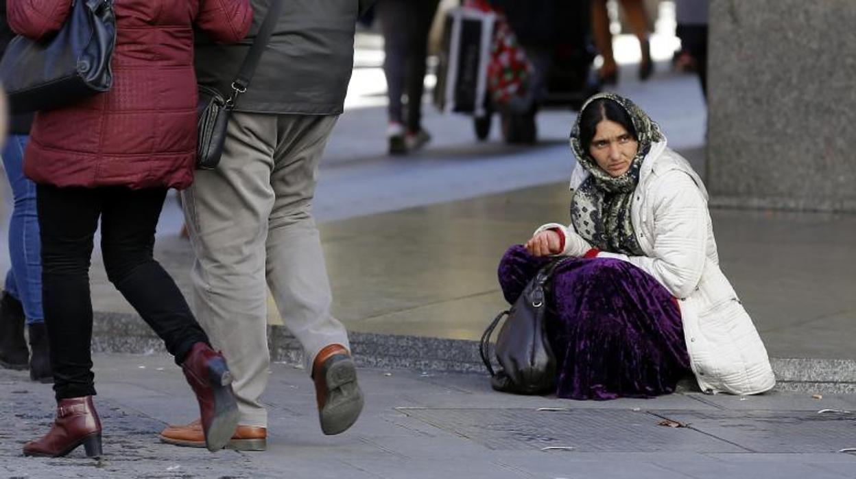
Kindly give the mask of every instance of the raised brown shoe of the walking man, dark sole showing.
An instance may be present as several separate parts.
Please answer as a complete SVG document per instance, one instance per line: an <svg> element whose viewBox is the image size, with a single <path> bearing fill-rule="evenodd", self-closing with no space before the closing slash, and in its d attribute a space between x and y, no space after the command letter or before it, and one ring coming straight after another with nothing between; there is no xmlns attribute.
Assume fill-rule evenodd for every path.
<svg viewBox="0 0 856 479"><path fill-rule="evenodd" d="M363 392L354 360L342 344L330 344L318 352L312 362L312 380L324 434L340 434L353 426L363 410Z"/></svg>

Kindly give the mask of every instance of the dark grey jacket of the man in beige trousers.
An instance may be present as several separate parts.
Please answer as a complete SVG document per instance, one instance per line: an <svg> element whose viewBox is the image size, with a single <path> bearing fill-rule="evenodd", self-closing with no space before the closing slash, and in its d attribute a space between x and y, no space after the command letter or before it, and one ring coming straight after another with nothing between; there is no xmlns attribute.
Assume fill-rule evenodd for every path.
<svg viewBox="0 0 856 479"><path fill-rule="evenodd" d="M238 45L217 45L197 33L199 83L229 94L270 0L252 0L253 27ZM374 0L282 0L265 54L236 110L262 113L342 113L354 66L354 27Z"/></svg>

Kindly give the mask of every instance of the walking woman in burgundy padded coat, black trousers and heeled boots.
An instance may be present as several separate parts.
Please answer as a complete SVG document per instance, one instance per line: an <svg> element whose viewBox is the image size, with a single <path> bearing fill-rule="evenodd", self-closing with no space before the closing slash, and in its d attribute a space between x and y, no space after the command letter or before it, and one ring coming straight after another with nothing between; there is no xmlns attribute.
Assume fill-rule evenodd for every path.
<svg viewBox="0 0 856 479"><path fill-rule="evenodd" d="M9 24L30 39L62 27L68 0L7 3ZM223 355L211 349L181 291L152 258L167 189L193 181L196 82L193 26L235 42L247 33L248 0L115 0L113 86L74 105L39 111L24 159L37 183L42 288L51 343L56 421L24 454L64 456L77 446L101 455L92 401L92 299L88 269L101 220L107 277L163 339L199 401L206 446L237 425Z"/></svg>

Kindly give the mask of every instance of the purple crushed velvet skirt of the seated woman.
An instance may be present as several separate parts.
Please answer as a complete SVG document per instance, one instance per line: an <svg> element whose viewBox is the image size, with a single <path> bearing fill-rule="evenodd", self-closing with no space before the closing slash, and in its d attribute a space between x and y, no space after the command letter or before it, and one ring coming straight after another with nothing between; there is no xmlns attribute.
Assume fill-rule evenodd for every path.
<svg viewBox="0 0 856 479"><path fill-rule="evenodd" d="M499 264L505 299L514 303L547 261L520 245L509 248ZM566 260L556 269L548 306L559 398L650 398L675 392L690 373L675 298L626 261Z"/></svg>

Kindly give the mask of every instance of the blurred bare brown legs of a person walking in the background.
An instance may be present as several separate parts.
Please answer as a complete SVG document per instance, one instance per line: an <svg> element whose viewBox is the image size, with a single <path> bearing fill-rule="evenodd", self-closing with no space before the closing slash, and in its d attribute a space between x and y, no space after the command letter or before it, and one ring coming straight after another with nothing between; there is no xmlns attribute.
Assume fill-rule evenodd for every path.
<svg viewBox="0 0 856 479"><path fill-rule="evenodd" d="M592 0L591 3L591 30L597 51L603 57L603 65L597 72L599 80L604 85L615 85L618 82L618 65L612 52L612 32L609 31L609 12L606 8L607 0ZM642 0L621 0L621 7L627 16L627 24L633 34L639 39L639 48L642 51L642 62L639 63L639 80L647 80L654 72L654 63L651 62L651 45L648 41L650 25L648 13Z"/></svg>

